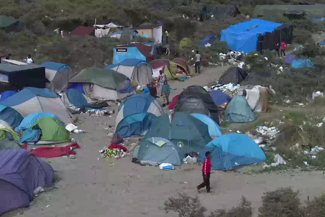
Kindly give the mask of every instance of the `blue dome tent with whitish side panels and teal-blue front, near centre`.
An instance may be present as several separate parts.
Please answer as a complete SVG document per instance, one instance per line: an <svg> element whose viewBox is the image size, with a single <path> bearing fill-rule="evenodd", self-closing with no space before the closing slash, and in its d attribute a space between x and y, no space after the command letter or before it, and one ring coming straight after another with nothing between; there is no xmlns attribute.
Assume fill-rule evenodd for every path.
<svg viewBox="0 0 325 217"><path fill-rule="evenodd" d="M121 103L115 121L115 134L123 137L143 135L152 120L163 114L159 102L147 94L127 97Z"/></svg>

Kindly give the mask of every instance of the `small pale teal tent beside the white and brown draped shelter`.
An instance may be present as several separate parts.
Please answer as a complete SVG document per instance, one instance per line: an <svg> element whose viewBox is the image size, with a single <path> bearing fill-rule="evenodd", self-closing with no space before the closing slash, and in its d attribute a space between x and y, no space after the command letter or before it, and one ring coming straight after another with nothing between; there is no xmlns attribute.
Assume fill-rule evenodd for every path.
<svg viewBox="0 0 325 217"><path fill-rule="evenodd" d="M246 99L242 96L235 96L226 109L226 121L235 123L246 123L256 119L254 112L249 107Z"/></svg>

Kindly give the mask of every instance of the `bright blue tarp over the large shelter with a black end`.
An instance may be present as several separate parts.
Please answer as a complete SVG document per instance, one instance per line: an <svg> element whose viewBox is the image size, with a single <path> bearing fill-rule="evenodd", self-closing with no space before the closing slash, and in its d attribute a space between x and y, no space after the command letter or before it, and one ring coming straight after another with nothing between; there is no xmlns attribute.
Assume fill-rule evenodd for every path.
<svg viewBox="0 0 325 217"><path fill-rule="evenodd" d="M252 19L247 22L240 22L221 31L220 41L227 42L232 50L249 53L256 51L258 36L266 32L273 32L282 23L267 20ZM250 29L251 28L251 29Z"/></svg>

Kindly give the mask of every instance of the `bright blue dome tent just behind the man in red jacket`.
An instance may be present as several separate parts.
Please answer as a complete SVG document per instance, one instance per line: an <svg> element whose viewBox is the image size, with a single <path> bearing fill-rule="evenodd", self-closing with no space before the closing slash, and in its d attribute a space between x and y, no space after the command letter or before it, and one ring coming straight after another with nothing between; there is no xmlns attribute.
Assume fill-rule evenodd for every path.
<svg viewBox="0 0 325 217"><path fill-rule="evenodd" d="M204 162L207 151L212 154L212 170L233 170L266 160L262 149L244 134L231 133L212 140L200 152L200 162Z"/></svg>

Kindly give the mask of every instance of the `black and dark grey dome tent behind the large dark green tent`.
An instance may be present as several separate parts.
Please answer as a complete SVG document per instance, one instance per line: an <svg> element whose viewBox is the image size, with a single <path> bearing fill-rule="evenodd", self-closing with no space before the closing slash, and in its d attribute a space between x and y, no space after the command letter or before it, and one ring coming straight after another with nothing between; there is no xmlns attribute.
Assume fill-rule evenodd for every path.
<svg viewBox="0 0 325 217"><path fill-rule="evenodd" d="M218 107L210 94L201 86L189 86L183 90L175 103L176 112L200 113L211 117L219 124Z"/></svg>

